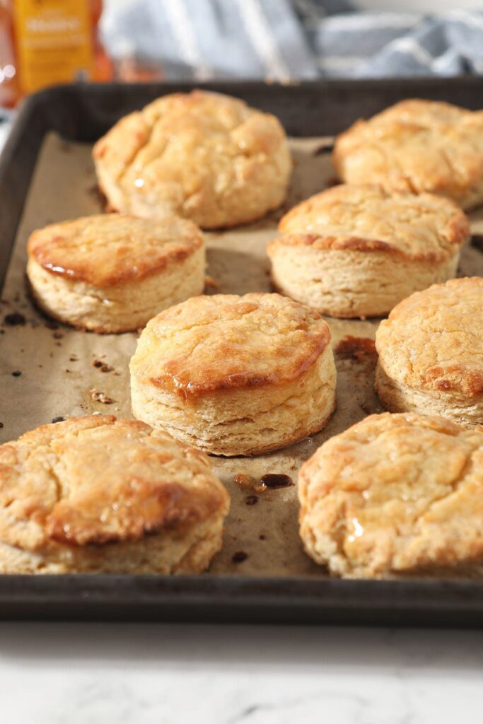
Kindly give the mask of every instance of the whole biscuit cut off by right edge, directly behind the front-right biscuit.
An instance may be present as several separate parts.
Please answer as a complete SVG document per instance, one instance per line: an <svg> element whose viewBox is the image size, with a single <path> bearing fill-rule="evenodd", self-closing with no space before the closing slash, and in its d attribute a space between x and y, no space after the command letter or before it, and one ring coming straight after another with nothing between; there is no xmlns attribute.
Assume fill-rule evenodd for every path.
<svg viewBox="0 0 483 724"><path fill-rule="evenodd" d="M376 332L376 389L392 412L483 424L483 279L433 285L403 300Z"/></svg>

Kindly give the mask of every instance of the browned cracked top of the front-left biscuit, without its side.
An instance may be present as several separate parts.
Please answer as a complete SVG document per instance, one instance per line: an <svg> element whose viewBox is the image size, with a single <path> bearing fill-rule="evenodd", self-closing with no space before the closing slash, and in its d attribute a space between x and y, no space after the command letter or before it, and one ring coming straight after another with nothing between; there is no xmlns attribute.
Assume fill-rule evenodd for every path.
<svg viewBox="0 0 483 724"><path fill-rule="evenodd" d="M72 418L0 447L0 540L25 550L183 534L227 499L206 455L137 421Z"/></svg>

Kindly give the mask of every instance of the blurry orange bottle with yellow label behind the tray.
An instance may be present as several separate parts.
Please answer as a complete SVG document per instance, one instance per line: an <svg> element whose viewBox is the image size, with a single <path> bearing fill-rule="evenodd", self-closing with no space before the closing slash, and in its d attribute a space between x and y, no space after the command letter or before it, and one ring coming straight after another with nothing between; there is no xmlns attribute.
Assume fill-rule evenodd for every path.
<svg viewBox="0 0 483 724"><path fill-rule="evenodd" d="M20 95L56 83L112 78L98 37L101 0L0 0L0 7L0 38L4 33L14 46Z"/></svg>

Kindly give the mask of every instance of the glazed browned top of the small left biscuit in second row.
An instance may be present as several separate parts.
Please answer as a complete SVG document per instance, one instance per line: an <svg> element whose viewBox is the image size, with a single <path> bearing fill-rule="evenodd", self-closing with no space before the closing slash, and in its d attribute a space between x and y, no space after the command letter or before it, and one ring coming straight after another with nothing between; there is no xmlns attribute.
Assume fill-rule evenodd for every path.
<svg viewBox="0 0 483 724"><path fill-rule="evenodd" d="M28 254L52 274L113 287L156 274L202 246L201 230L185 219L98 214L33 232Z"/></svg>

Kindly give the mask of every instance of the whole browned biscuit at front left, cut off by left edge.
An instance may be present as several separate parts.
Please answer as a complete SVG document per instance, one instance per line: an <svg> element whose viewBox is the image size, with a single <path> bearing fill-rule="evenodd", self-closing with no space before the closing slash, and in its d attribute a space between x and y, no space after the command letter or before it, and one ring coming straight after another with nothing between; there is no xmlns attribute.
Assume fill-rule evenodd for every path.
<svg viewBox="0 0 483 724"><path fill-rule="evenodd" d="M0 573L201 573L229 504L209 458L166 432L43 425L0 447Z"/></svg>

